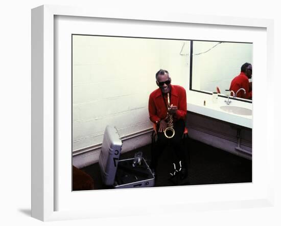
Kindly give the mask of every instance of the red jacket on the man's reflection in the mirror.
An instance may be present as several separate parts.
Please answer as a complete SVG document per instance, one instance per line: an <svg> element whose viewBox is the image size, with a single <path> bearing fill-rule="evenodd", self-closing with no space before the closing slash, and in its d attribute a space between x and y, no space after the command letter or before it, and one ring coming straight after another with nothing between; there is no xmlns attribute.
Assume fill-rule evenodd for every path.
<svg viewBox="0 0 281 226"><path fill-rule="evenodd" d="M239 91L237 97L252 99L252 91L249 92L249 79L244 72L241 72L238 76L232 79L229 89L236 93L240 88L245 89L246 95L243 91Z"/></svg>

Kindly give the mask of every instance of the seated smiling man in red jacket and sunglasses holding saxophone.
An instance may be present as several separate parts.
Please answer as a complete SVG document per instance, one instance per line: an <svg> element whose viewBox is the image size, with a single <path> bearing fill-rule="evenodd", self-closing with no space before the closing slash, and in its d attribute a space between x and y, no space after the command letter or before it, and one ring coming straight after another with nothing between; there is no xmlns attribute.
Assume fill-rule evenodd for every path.
<svg viewBox="0 0 281 226"><path fill-rule="evenodd" d="M186 177L186 157L183 147L180 145L181 137L185 128L186 116L186 92L179 85L172 85L169 72L160 69L156 73L156 84L158 86L149 96L149 118L156 124L157 142L156 147L151 153L151 169L156 170L158 158L168 145L170 140L179 160L181 161L181 174L183 179ZM168 93L170 96L170 108L168 110ZM167 112L173 116L173 128L175 135L167 138L164 134L167 128Z"/></svg>

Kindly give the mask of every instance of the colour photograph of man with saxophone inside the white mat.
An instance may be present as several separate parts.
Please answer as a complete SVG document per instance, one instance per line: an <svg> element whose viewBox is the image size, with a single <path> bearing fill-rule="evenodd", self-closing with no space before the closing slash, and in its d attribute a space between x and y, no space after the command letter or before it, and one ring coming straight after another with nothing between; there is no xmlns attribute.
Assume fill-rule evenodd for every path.
<svg viewBox="0 0 281 226"><path fill-rule="evenodd" d="M72 191L252 183L252 52L72 34Z"/></svg>

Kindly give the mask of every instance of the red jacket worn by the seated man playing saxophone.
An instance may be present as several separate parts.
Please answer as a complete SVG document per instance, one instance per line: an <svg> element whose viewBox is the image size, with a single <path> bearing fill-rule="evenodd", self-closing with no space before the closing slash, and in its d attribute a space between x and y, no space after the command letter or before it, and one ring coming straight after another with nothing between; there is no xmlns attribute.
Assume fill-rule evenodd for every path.
<svg viewBox="0 0 281 226"><path fill-rule="evenodd" d="M167 94L164 98L166 104L168 103ZM170 95L170 104L177 106L178 110L175 115L175 121L178 119L185 119L186 116L186 92L185 89L179 85L171 85L171 95ZM162 92L160 88L157 88L149 96L148 101L148 110L149 110L149 119L158 123L161 119L167 117L167 106L166 106Z"/></svg>

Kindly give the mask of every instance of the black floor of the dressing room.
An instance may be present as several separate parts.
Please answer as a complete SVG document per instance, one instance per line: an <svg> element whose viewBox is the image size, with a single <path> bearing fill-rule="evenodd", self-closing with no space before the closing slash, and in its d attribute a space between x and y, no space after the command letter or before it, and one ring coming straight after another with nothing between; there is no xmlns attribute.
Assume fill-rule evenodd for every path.
<svg viewBox="0 0 281 226"><path fill-rule="evenodd" d="M252 161L239 157L189 139L189 164L188 178L179 182L180 185L208 185L226 183L249 183L252 182ZM142 151L143 156L149 162L151 146L121 154L120 160L134 157L134 153ZM171 180L170 173L174 172L176 157L173 150L167 147L159 159L155 187L175 186L175 180ZM102 185L99 164L92 164L81 170L88 173L94 180L95 189L107 189ZM176 182L178 183L178 182Z"/></svg>

